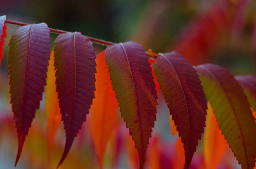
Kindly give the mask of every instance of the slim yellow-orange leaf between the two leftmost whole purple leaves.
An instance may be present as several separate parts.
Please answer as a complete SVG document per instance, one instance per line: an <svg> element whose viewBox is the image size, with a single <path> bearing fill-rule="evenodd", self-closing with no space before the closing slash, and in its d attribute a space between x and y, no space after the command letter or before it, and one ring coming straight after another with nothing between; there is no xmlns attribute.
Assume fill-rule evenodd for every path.
<svg viewBox="0 0 256 169"><path fill-rule="evenodd" d="M61 123L58 92L56 91L56 70L54 70L54 51L51 51L45 87L45 113L48 126L49 162L54 137Z"/></svg>

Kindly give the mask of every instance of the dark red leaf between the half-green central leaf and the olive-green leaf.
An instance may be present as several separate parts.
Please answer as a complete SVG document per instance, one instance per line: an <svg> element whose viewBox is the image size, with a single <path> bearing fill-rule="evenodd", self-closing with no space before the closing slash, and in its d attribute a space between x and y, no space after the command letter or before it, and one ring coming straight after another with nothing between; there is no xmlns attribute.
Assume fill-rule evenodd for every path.
<svg viewBox="0 0 256 169"><path fill-rule="evenodd" d="M180 54L159 54L153 70L184 143L185 168L188 168L206 120L206 99L196 70Z"/></svg>

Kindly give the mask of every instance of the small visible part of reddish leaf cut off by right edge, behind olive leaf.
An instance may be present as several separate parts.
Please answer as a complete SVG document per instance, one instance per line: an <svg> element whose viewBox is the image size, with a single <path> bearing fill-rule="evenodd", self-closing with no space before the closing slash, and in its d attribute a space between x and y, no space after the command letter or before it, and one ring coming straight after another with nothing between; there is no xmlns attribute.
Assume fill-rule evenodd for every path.
<svg viewBox="0 0 256 169"><path fill-rule="evenodd" d="M235 79L240 83L244 89L244 93L253 108L256 111L256 77L253 75L238 75Z"/></svg>

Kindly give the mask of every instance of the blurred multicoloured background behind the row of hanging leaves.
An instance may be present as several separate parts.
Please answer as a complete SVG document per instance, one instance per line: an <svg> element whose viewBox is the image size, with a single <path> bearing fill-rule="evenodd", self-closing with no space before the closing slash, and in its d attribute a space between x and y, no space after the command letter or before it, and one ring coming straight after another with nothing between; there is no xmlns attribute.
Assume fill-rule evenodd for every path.
<svg viewBox="0 0 256 169"><path fill-rule="evenodd" d="M8 20L30 24L44 22L50 28L81 32L115 43L135 41L146 51L152 49L154 52L162 53L180 52L193 65L215 63L228 69L233 75L255 75L256 1L0 0L0 4L0 16L7 15ZM8 96L7 58L8 42L18 27L7 25L4 59L0 67L0 168L14 166L17 150L18 141ZM51 48L55 37L56 34L51 34ZM96 54L105 49L104 46L97 44L94 47ZM160 154L159 160L168 168L175 162L177 135L172 137L170 134L167 106L163 96L159 97L159 111L151 142L155 143L154 146L161 146L158 149L150 146L149 152L154 150L156 153L157 150ZM133 168L136 164L136 153L131 152L134 145L131 141L126 143L129 140L128 130L122 123L120 114L118 119L120 122L116 124L103 166ZM83 130L60 168L98 167L88 123L84 123ZM57 166L64 146L63 126L60 128L51 158L53 168ZM198 161L202 161L201 145L199 142L192 168L199 168ZM231 158L225 160L222 168L237 167L230 150L225 155L225 158L228 157ZM47 158L47 124L42 101L17 168L49 168ZM151 164L149 161L146 162L148 168L153 165L149 163Z"/></svg>

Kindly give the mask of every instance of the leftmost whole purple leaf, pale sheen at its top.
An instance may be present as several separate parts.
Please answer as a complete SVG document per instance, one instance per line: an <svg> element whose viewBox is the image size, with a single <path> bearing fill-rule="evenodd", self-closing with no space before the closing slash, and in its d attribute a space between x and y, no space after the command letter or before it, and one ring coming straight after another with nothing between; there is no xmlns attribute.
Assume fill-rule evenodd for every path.
<svg viewBox="0 0 256 169"><path fill-rule="evenodd" d="M16 166L46 84L49 28L45 23L22 26L12 34L9 46L11 104L19 140Z"/></svg>

